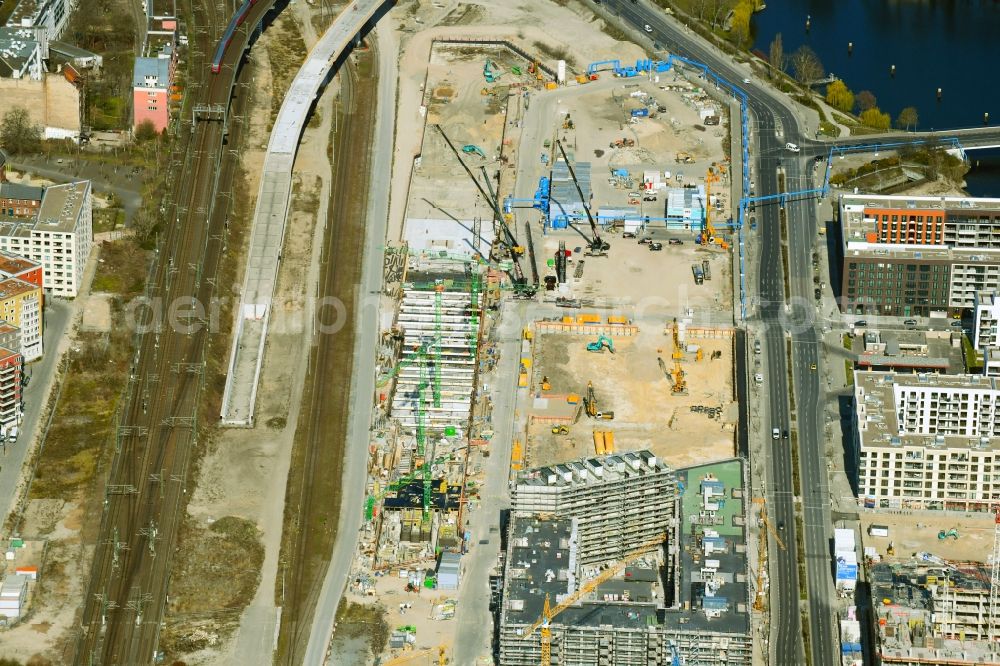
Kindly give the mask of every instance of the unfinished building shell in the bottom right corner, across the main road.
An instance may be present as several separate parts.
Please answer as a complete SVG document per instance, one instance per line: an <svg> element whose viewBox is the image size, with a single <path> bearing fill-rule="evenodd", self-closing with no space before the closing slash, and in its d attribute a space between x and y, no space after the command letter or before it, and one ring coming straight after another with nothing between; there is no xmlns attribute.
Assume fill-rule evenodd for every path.
<svg viewBox="0 0 1000 666"><path fill-rule="evenodd" d="M1000 664L1000 609L990 596L991 569L918 555L868 571L881 663Z"/></svg>

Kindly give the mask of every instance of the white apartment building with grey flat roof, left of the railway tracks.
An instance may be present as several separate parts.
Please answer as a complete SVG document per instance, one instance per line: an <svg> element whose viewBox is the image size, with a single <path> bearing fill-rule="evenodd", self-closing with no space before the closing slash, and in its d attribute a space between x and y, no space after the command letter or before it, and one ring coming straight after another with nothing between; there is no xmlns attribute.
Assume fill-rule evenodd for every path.
<svg viewBox="0 0 1000 666"><path fill-rule="evenodd" d="M44 288L73 298L94 243L90 181L45 188L33 218L0 217L0 251L41 264Z"/></svg>

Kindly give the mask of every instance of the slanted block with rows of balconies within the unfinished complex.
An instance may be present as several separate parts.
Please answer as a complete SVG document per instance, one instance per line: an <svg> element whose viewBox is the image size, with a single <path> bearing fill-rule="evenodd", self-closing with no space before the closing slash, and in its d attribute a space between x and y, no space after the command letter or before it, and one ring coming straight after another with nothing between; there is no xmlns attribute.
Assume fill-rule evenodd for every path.
<svg viewBox="0 0 1000 666"><path fill-rule="evenodd" d="M621 557L662 534L674 517L673 469L649 451L586 458L518 474L515 515L554 514L578 522L580 562Z"/></svg>

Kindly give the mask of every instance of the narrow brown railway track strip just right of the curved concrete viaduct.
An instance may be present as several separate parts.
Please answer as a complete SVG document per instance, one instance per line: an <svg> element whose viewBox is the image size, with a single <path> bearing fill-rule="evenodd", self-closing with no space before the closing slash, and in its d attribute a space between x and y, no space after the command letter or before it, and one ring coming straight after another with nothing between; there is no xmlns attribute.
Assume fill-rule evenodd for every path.
<svg viewBox="0 0 1000 666"><path fill-rule="evenodd" d="M341 69L342 121L334 144L334 174L326 231L319 299L337 298L346 325L334 334L319 332L309 361L310 385L302 405L296 446L302 452L300 477L289 485L286 515L297 517L294 546L290 548L283 589L278 661L298 664L303 659L312 615L329 562L340 505L340 478L347 436L347 410L353 365L354 315L361 278L364 220L370 153L375 124L376 81L374 51L361 54ZM341 157L343 156L343 157ZM330 309L319 323L333 324ZM293 474L295 470L293 470ZM287 529L287 525L286 525ZM286 539L288 538L286 533Z"/></svg>

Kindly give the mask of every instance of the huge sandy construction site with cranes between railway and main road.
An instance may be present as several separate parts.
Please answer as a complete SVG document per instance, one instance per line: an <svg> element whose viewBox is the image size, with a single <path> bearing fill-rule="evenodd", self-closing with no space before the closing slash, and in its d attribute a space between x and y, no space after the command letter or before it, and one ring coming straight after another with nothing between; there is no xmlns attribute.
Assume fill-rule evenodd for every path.
<svg viewBox="0 0 1000 666"><path fill-rule="evenodd" d="M485 607L463 616L461 604L481 595L475 586L487 576L490 611L512 608L500 603L505 553L498 560L490 549L509 549L531 528L500 527L496 495L529 467L646 478L645 500L627 504L620 483L596 483L588 502L620 502L644 525L580 558L585 570L572 574L593 577L608 560L644 566L648 589L638 594L651 605L609 610L623 618L616 640L645 641L652 613L663 629L650 655L749 663L742 466L728 463L737 471L719 502L715 491L701 494L701 476L686 486L689 473L673 471L731 461L738 415L728 107L691 79L652 60L574 72L516 40L432 43L420 149L398 238L386 247L383 293L393 306L381 315L365 520L348 590L385 605L388 663L461 661L450 646L462 623L490 619ZM586 469L564 465L581 459ZM532 482L515 485L530 494ZM557 515L551 528L596 544L610 522ZM646 542L656 545L633 552ZM705 548L719 552L704 561ZM555 591L552 606L563 596ZM531 622L548 608L529 606ZM578 647L554 663L598 663L591 643L603 630L581 631L555 640ZM525 651L503 648L505 636L502 663L547 663L537 639L521 641ZM649 663L641 654L616 663Z"/></svg>

